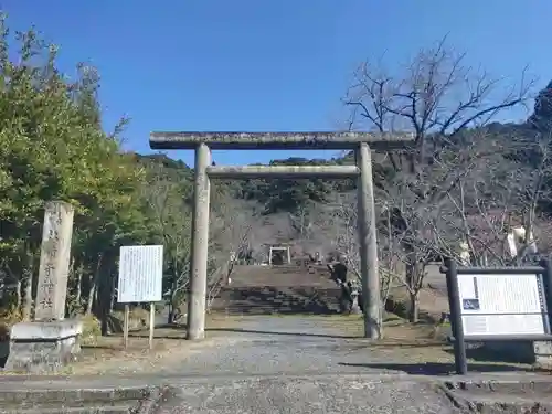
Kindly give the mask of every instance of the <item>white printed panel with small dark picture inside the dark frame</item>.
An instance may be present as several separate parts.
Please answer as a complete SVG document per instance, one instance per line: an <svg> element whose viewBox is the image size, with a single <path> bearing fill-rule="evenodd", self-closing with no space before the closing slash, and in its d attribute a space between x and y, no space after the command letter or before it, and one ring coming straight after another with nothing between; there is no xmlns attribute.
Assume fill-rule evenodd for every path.
<svg viewBox="0 0 552 414"><path fill-rule="evenodd" d="M457 277L466 337L545 333L540 275L459 274Z"/></svg>

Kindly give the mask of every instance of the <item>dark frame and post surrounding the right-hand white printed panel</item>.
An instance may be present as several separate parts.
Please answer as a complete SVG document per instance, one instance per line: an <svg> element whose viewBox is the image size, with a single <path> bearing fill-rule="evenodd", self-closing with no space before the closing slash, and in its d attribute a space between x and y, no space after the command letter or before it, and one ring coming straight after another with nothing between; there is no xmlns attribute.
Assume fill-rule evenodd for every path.
<svg viewBox="0 0 552 414"><path fill-rule="evenodd" d="M457 267L456 262L447 261L442 268L446 275L448 304L450 306L450 328L454 340L455 365L458 374L467 373L466 342L488 342L488 341L550 341L552 340L552 326L549 309L552 309L552 264L550 261L542 261L540 266L527 267ZM458 277L465 275L496 275L496 276L527 276L538 277L542 297L541 315L543 318L543 335L465 335L463 316L463 304L459 293ZM500 314L479 314L480 316ZM502 314L505 315L505 314ZM517 312L513 315L529 315Z"/></svg>

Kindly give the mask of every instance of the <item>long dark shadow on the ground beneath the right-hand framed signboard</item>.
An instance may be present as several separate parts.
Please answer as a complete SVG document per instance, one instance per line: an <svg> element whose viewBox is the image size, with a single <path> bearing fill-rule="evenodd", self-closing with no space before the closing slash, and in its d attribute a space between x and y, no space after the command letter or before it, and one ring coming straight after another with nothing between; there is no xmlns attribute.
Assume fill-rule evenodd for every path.
<svg viewBox="0 0 552 414"><path fill-rule="evenodd" d="M341 367L355 367L378 370L403 371L413 375L450 375L455 374L455 367L452 363L442 362L424 362L424 363L346 363L340 362ZM470 363L468 364L470 372L540 372L540 370L519 365L497 365L490 363Z"/></svg>

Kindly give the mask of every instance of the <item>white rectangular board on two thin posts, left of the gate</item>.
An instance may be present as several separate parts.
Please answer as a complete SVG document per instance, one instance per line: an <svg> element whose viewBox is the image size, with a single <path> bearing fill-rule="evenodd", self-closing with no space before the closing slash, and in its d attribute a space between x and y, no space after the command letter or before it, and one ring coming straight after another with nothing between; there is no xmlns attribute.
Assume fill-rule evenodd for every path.
<svg viewBox="0 0 552 414"><path fill-rule="evenodd" d="M160 301L163 277L163 246L121 246L119 257L119 304Z"/></svg>

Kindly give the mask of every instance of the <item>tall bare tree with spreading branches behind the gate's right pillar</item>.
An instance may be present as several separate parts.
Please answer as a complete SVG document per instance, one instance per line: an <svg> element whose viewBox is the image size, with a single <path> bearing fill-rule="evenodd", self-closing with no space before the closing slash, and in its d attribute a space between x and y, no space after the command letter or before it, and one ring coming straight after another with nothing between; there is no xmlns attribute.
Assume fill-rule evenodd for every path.
<svg viewBox="0 0 552 414"><path fill-rule="evenodd" d="M352 129L414 136L412 150L386 155L379 182L379 195L388 200L393 232L401 238L411 321L418 319L418 291L436 255L436 217L479 156L463 146L466 134L502 110L524 105L532 86L523 77L520 85L500 83L464 62L465 55L447 49L445 39L418 52L401 76L367 62L344 99Z"/></svg>

